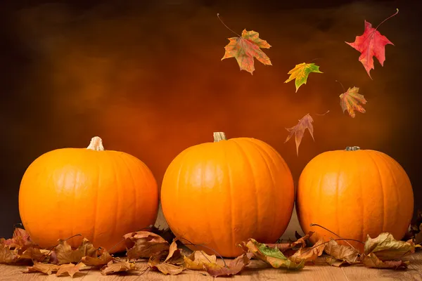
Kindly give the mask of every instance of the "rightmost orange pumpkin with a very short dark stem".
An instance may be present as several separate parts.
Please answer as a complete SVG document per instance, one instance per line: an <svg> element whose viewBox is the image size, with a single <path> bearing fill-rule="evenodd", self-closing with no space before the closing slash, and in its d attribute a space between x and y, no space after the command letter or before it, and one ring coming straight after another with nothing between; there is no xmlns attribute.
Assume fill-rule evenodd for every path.
<svg viewBox="0 0 422 281"><path fill-rule="evenodd" d="M302 230L316 232L310 237L313 243L338 236L365 242L367 235L374 238L383 232L401 240L414 211L414 195L395 159L376 150L348 147L317 155L305 166L296 210ZM359 242L338 243L364 249Z"/></svg>

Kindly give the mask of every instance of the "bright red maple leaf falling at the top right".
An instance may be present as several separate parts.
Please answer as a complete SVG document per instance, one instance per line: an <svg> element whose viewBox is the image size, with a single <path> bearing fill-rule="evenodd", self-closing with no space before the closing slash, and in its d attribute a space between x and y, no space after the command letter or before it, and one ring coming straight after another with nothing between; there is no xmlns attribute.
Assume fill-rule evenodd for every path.
<svg viewBox="0 0 422 281"><path fill-rule="evenodd" d="M399 9L394 15L399 13ZM391 15L389 18L391 18ZM385 19L388 20L389 18ZM385 22L383 20L383 22ZM373 57L375 56L378 61L380 62L381 66L384 66L385 61L385 45L392 44L390 40L387 39L384 35L381 35L378 32L378 27L383 23L378 25L378 27L373 28L371 23L365 22L365 30L364 34L361 36L357 36L353 43L345 42L346 44L352 46L354 49L359 51L361 55L359 56L359 61L364 65L366 72L368 73L369 77L372 79L371 74L369 73L373 70Z"/></svg>

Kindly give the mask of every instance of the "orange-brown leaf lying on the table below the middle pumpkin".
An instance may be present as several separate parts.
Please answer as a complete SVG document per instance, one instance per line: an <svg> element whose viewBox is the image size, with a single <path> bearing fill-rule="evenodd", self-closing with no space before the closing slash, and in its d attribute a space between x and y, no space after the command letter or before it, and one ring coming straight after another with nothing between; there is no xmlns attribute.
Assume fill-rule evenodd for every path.
<svg viewBox="0 0 422 281"><path fill-rule="evenodd" d="M212 277L236 275L248 266L252 253L241 254L236 259L231 260L227 266L221 266L217 263L204 263L204 268Z"/></svg>

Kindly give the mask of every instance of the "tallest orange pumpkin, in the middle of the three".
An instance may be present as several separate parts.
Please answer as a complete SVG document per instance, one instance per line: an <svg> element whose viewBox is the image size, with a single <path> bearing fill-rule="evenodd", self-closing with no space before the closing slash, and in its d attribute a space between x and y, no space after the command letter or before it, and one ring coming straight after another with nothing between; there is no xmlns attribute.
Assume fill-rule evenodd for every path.
<svg viewBox="0 0 422 281"><path fill-rule="evenodd" d="M293 178L274 148L255 138L193 145L175 157L161 187L162 211L172 232L193 250L242 254L242 241L274 243L293 212ZM196 247L192 244L203 244Z"/></svg>

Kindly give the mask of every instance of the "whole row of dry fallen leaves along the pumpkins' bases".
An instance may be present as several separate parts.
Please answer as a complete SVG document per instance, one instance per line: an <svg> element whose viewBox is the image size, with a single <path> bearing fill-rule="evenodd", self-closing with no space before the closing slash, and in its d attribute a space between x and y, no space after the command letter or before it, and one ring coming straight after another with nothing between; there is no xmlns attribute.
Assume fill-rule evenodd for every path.
<svg viewBox="0 0 422 281"><path fill-rule="evenodd" d="M204 251L185 249L180 242L183 238L174 237L168 229L152 227L148 231L127 233L123 237L127 247L125 255L113 256L106 249L96 249L87 239L83 239L77 249L72 249L66 240L58 240L53 249L41 249L25 230L15 228L11 239L0 239L0 263L27 265L25 273L72 277L82 273L81 270L100 270L103 275L158 270L165 275L196 272L213 277L229 276L248 268L252 259L262 265L289 270L322 263L331 266L360 263L367 268L405 269L409 261L402 261L402 257L421 248L421 230L422 213L419 211L416 223L409 226L407 241L395 240L390 233L381 233L375 238L368 236L366 242L362 242L363 253L351 245L338 244L339 240L347 241L343 238L319 240L311 247L308 239L313 232L303 237L296 233L296 241L277 244L263 244L250 238L238 244L244 253L228 262Z"/></svg>

